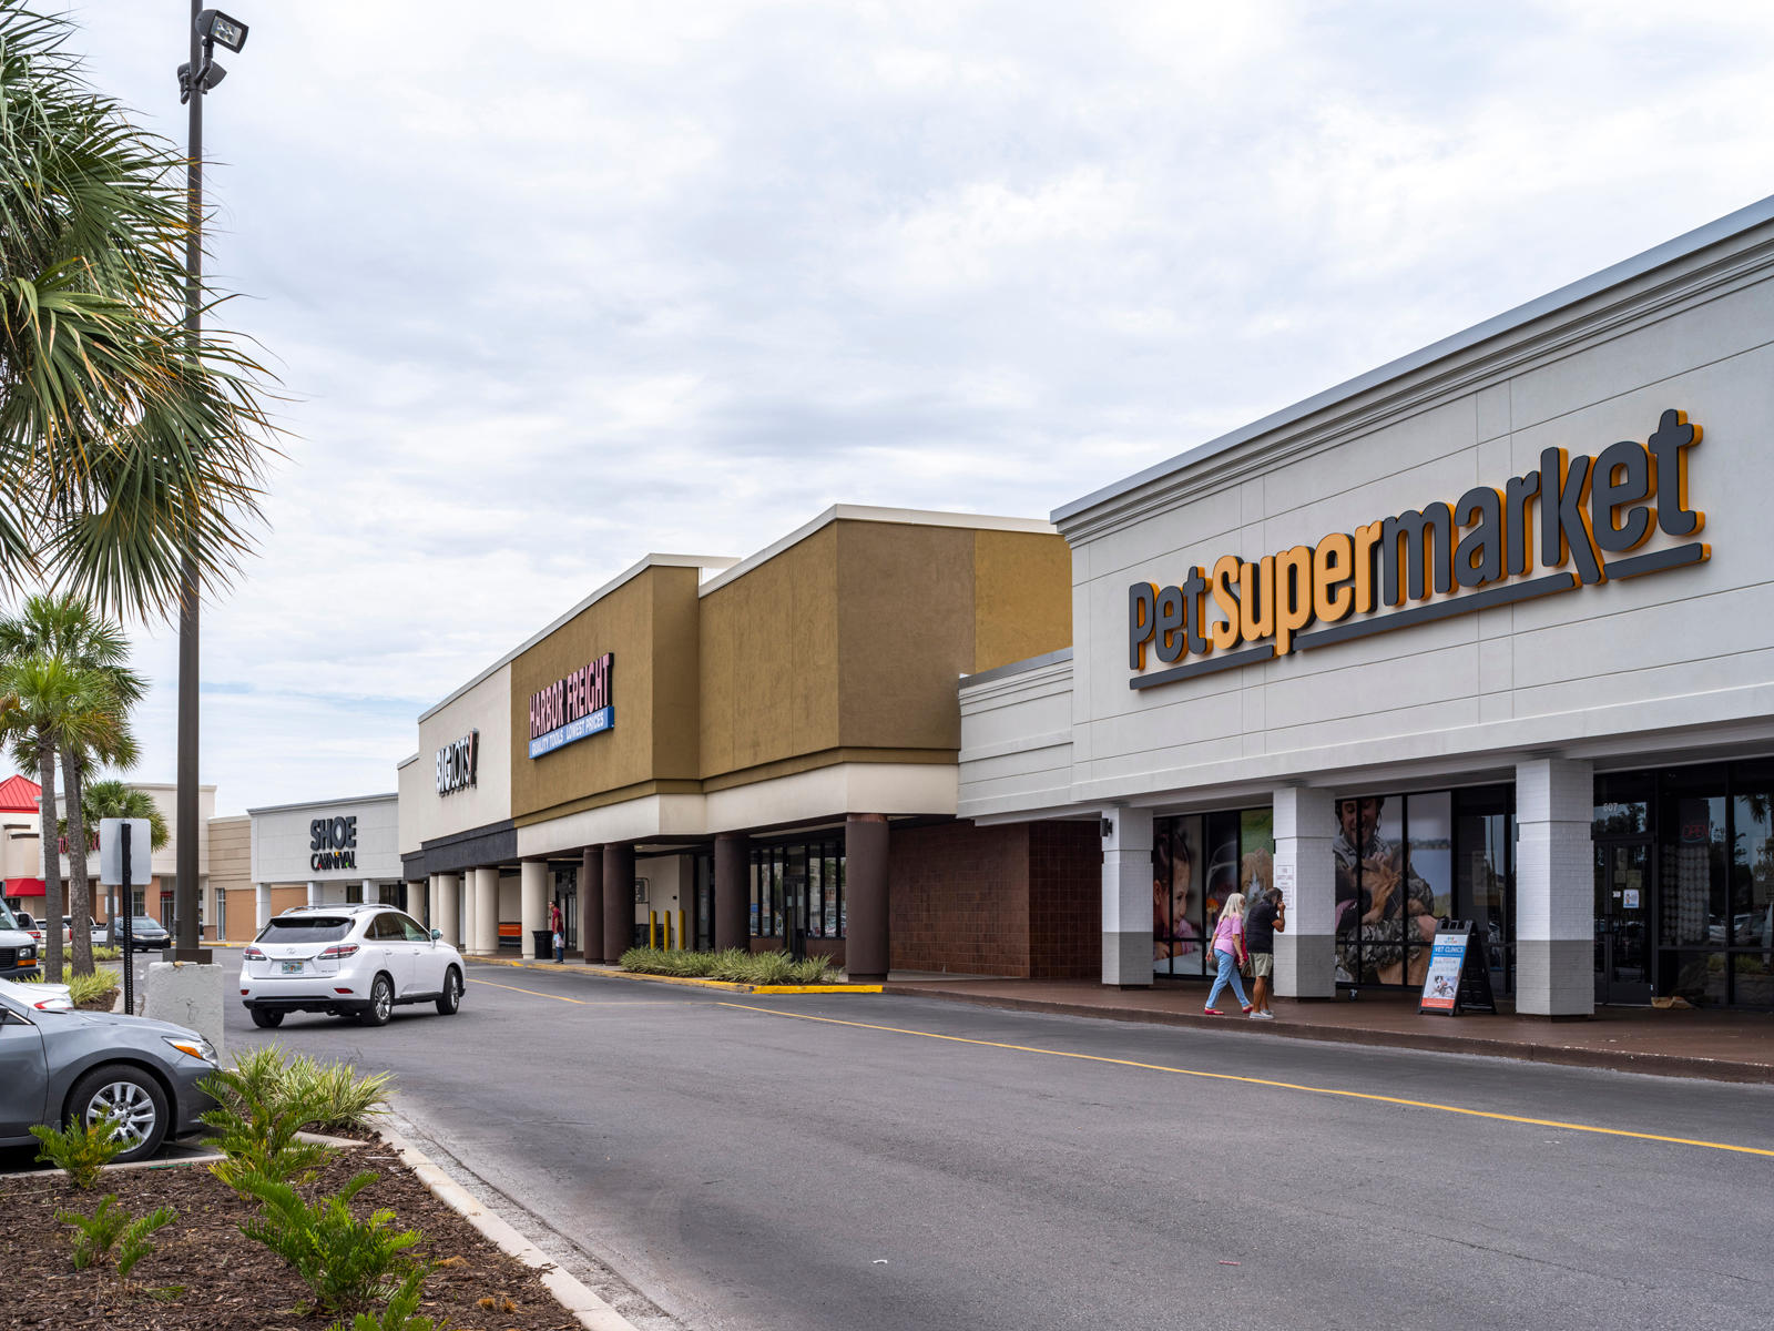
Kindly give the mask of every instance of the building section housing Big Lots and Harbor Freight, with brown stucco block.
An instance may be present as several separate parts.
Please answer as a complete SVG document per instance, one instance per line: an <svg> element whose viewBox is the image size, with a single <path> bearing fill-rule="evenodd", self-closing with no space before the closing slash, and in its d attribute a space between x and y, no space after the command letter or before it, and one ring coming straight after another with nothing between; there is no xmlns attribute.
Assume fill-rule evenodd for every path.
<svg viewBox="0 0 1774 1331"><path fill-rule="evenodd" d="M1095 976L1093 822L956 822L956 680L1071 641L1045 522L834 508L648 555L419 719L408 905L472 951L802 942L852 976ZM1082 884L1082 891L1079 889Z"/></svg>

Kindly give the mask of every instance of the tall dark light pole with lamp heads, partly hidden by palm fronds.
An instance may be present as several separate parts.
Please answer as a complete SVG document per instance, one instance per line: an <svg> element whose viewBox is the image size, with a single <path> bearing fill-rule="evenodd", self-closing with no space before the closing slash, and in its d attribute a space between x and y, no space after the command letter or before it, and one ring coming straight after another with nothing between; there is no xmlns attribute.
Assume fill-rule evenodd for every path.
<svg viewBox="0 0 1774 1331"><path fill-rule="evenodd" d="M227 71L215 62L215 48L238 51L247 44L247 25L220 9L199 9L192 0L192 59L179 66L179 101L190 106L190 146L184 167L184 332L195 346L202 332L204 275L204 96ZM197 602L202 593L197 554L186 545L179 570L179 793L174 815L177 878L172 889L174 962L208 962L197 930ZM145 903L144 903L145 905ZM133 907L131 907L133 909Z"/></svg>

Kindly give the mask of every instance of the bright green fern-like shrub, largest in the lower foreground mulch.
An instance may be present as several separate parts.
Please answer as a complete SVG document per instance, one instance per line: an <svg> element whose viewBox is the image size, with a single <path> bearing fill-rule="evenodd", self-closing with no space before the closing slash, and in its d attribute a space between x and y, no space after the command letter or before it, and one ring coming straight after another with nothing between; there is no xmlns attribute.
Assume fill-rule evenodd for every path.
<svg viewBox="0 0 1774 1331"><path fill-rule="evenodd" d="M259 1219L239 1232L282 1256L312 1290L318 1310L353 1313L404 1290L401 1281L415 1271L404 1253L419 1242L417 1230L389 1228L392 1210L364 1221L351 1216L351 1198L373 1182L374 1173L360 1173L334 1196L303 1201L289 1184L248 1178L245 1191L259 1198Z"/></svg>

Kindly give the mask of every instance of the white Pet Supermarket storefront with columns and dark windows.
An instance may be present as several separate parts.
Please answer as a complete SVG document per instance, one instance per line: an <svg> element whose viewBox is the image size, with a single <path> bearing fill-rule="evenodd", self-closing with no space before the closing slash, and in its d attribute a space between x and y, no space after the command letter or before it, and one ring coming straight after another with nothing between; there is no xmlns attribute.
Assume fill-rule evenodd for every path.
<svg viewBox="0 0 1774 1331"><path fill-rule="evenodd" d="M1102 980L1774 1006L1774 201L1054 522L1075 642L962 681L962 816L1087 820Z"/></svg>

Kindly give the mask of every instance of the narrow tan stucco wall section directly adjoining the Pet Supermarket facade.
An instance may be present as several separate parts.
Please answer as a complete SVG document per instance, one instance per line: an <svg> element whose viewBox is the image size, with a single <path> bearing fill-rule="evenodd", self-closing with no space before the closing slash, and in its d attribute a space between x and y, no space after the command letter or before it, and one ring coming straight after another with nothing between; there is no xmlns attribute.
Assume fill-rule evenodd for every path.
<svg viewBox="0 0 1774 1331"><path fill-rule="evenodd" d="M1071 547L1061 536L974 532L974 673L1071 646Z"/></svg>

